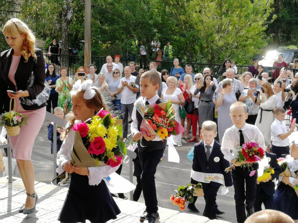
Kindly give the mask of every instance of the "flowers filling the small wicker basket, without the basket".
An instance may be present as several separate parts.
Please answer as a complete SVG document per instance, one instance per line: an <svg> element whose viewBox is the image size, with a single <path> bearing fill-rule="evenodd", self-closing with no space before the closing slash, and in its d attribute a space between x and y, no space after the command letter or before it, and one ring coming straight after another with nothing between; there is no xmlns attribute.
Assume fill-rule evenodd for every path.
<svg viewBox="0 0 298 223"><path fill-rule="evenodd" d="M10 124L11 119L11 124ZM27 117L20 112L10 111L0 115L0 125L6 126L22 126L27 124Z"/></svg>

